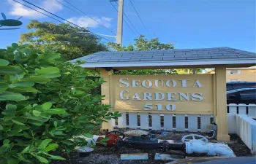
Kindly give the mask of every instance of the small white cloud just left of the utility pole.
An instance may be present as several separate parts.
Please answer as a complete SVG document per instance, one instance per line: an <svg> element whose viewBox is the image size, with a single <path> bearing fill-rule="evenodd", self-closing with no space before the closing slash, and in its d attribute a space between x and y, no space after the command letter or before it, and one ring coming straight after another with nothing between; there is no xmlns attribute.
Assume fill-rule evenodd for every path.
<svg viewBox="0 0 256 164"><path fill-rule="evenodd" d="M107 28L110 27L111 25L111 20L112 18L110 17L92 17L94 18L94 20L91 20L90 17L71 17L68 20L72 23L75 23L76 25L80 26L80 27L84 27L84 28L97 28L100 24L102 24L103 26L106 26Z"/></svg>

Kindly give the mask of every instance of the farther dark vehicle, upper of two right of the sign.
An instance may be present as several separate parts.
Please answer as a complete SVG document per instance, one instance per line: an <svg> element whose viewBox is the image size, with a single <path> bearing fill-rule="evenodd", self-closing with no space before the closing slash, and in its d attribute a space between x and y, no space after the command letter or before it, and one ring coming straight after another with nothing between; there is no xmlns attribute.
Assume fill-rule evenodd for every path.
<svg viewBox="0 0 256 164"><path fill-rule="evenodd" d="M256 87L256 82L227 82L227 91Z"/></svg>

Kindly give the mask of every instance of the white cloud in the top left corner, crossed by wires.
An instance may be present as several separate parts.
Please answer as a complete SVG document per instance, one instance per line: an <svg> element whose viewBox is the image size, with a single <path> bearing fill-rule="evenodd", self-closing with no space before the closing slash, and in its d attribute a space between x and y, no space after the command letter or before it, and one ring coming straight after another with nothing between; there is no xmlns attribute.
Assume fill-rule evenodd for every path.
<svg viewBox="0 0 256 164"><path fill-rule="evenodd" d="M42 15L39 12L44 12L41 9L37 9L36 7L33 7L34 9L37 9L39 12L34 11L33 9L29 9L28 7L24 7L22 4L18 4L15 1L7 0L10 5L10 15L15 16L23 16L23 17L32 17L32 18L39 18L39 17L45 17L45 15ZM25 2L23 4L26 4ZM34 3L33 3L34 4ZM29 4L26 4L28 6L31 6ZM42 9L47 10L48 12L58 12L62 9L62 5L59 4L55 0L43 0L41 4L36 4L39 7L42 7Z"/></svg>

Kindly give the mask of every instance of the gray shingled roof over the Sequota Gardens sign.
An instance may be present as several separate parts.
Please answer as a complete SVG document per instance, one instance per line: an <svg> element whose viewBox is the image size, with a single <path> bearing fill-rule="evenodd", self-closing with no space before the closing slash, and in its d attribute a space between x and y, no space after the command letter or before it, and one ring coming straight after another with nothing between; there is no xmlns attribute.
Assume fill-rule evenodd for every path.
<svg viewBox="0 0 256 164"><path fill-rule="evenodd" d="M84 67L97 67L103 63L146 63L146 62L176 62L196 60L241 60L256 59L255 52L247 52L229 47L181 49L181 50L149 50L149 51L125 51L125 52L97 52L75 60L86 60ZM255 63L255 61L254 61ZM148 65L150 66L150 65ZM104 64L102 65L104 67Z"/></svg>

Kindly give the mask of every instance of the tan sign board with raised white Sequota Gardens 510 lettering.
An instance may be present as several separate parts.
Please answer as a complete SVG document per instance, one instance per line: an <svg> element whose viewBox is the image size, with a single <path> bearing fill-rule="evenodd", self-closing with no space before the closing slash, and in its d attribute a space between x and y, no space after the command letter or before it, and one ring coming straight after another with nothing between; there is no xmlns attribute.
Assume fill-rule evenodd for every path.
<svg viewBox="0 0 256 164"><path fill-rule="evenodd" d="M213 114L213 77L213 74L113 76L114 109Z"/></svg>

